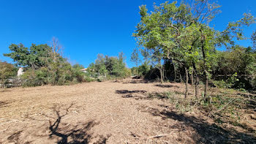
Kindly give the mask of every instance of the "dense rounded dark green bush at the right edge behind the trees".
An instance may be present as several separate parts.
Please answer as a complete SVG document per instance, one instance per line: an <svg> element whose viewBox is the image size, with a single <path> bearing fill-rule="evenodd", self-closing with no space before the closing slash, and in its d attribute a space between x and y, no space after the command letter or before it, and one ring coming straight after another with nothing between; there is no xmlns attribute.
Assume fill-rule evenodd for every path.
<svg viewBox="0 0 256 144"><path fill-rule="evenodd" d="M217 51L217 56L212 63L212 78L225 82L224 87L255 88L256 51L252 48L236 46L231 50ZM236 80L233 80L235 76Z"/></svg>

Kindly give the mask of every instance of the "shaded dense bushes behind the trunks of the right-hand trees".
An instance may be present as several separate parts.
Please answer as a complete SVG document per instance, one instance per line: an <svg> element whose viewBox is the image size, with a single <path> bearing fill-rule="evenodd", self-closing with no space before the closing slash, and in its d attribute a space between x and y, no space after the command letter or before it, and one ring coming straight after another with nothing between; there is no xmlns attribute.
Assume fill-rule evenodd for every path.
<svg viewBox="0 0 256 144"><path fill-rule="evenodd" d="M217 50L209 64L211 65L210 69L208 69L211 85L219 88L255 89L256 51L251 47L244 48L236 45L229 50ZM143 71L142 67L147 67L147 70ZM202 67L203 63L199 63L198 69L202 69ZM157 80L160 77L159 69L152 67L151 64L142 64L139 69L140 76L145 77L147 80ZM165 80L184 81L185 73L181 64L165 58L163 69ZM176 69L176 72L174 72L174 69ZM189 69L190 75L191 71L192 69ZM203 80L203 73L200 75L200 80ZM189 81L190 83L192 82L191 77L189 77Z"/></svg>

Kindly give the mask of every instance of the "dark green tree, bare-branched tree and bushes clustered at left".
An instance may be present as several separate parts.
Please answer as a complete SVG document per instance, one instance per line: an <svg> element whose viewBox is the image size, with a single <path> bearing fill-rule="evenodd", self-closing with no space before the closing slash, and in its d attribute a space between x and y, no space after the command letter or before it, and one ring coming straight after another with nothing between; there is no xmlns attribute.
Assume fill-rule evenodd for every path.
<svg viewBox="0 0 256 144"><path fill-rule="evenodd" d="M30 48L24 45L10 45L11 53L6 53L13 59L16 66L24 67L22 75L23 86L63 85L65 83L78 83L85 81L83 66L74 65L61 56L58 40L53 39L52 45L34 45Z"/></svg>

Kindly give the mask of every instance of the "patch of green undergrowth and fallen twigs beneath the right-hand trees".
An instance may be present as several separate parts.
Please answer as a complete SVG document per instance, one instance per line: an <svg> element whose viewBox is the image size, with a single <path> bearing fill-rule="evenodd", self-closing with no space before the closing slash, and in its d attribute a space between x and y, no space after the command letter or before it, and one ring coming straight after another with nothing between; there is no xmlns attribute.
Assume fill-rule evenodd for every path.
<svg viewBox="0 0 256 144"><path fill-rule="evenodd" d="M255 130L249 129L244 124L242 117L244 113L252 113L249 110L256 110L256 96L227 88L217 89L217 91L215 89L214 91L209 96L211 101L207 101L207 98L203 96L198 99L194 97L184 99L184 94L174 91L148 94L148 97L167 99L175 105L176 110L180 113L192 111L204 113L206 116L213 118L217 124L232 124L255 133ZM244 112L244 110L247 112Z"/></svg>

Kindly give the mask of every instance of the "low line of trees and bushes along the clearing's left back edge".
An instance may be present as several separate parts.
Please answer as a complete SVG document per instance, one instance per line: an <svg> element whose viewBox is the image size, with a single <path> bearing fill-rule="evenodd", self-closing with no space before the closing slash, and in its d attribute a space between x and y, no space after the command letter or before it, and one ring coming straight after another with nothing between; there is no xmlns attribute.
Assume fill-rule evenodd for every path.
<svg viewBox="0 0 256 144"><path fill-rule="evenodd" d="M2 87L7 86L10 81L22 86L64 85L130 75L124 63L124 53L119 53L118 57L99 54L95 64L92 63L86 71L81 71L84 69L83 65L72 66L62 56L62 47L56 38L53 38L50 45L32 44L30 48L26 48L23 44L12 44L9 49L11 53L4 53L4 56L12 58L15 64L0 61ZM23 67L25 71L21 77L17 77L18 67Z"/></svg>

